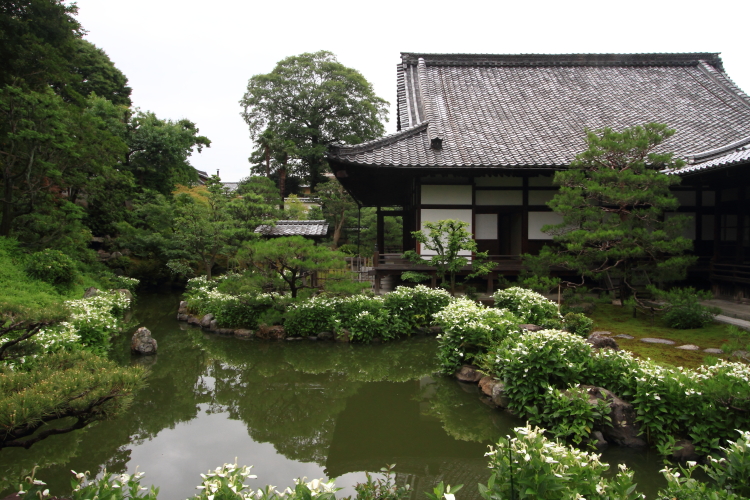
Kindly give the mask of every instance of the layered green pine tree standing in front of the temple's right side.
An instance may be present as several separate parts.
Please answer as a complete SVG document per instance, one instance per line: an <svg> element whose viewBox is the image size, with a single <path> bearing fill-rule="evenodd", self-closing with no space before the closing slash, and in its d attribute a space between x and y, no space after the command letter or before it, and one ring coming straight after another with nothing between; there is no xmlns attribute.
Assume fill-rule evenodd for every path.
<svg viewBox="0 0 750 500"><path fill-rule="evenodd" d="M635 290L636 274L652 281L683 277L695 261L686 254L692 249L683 236L687 219L664 216L679 206L669 188L680 182L664 172L684 165L661 152L674 133L658 123L588 131L588 148L555 174L560 190L548 206L563 221L542 228L555 245L527 261L571 269L584 280L609 273L620 279L623 299Z"/></svg>

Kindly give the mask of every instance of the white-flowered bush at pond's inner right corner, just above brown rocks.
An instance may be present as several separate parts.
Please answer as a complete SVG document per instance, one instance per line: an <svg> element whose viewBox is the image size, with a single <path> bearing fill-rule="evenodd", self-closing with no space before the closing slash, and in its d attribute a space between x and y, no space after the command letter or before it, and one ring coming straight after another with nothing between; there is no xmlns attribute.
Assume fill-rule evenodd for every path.
<svg viewBox="0 0 750 500"><path fill-rule="evenodd" d="M479 359L487 349L511 334L517 334L516 316L459 298L435 314L443 333L438 357L443 373L454 373L462 364Z"/></svg>

